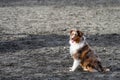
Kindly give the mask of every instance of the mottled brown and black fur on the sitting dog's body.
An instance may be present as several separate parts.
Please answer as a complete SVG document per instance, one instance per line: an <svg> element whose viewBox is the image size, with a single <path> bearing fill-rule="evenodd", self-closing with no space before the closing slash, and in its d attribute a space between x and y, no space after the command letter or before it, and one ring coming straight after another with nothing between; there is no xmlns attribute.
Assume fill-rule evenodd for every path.
<svg viewBox="0 0 120 80"><path fill-rule="evenodd" d="M104 71L100 61L97 59L97 56L90 49L89 45L85 45L83 48L78 50L74 54L74 58L81 60L81 66L84 70L94 72L94 69L98 71Z"/></svg>

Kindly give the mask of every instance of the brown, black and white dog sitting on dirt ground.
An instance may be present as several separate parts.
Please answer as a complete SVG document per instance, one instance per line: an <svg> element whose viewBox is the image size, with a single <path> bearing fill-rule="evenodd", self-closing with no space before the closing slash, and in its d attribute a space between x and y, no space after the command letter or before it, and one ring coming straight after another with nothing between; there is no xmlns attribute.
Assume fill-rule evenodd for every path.
<svg viewBox="0 0 120 80"><path fill-rule="evenodd" d="M100 58L91 49L86 41L83 32L73 29L70 31L70 55L74 62L70 71L75 71L80 65L84 71L88 72L107 72L110 69L102 66Z"/></svg>

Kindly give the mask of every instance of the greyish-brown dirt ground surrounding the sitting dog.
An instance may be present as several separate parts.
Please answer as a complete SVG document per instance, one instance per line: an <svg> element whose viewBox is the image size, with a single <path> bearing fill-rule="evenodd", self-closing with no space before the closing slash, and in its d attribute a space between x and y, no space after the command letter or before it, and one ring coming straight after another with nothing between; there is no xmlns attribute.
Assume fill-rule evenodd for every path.
<svg viewBox="0 0 120 80"><path fill-rule="evenodd" d="M69 72L72 28L110 72ZM120 0L0 0L0 80L120 80Z"/></svg>

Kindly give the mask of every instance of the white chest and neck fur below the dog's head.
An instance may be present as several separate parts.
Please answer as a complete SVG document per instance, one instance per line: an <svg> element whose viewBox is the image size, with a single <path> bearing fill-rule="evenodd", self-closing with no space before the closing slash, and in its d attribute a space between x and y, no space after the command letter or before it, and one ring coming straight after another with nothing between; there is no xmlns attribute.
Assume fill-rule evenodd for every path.
<svg viewBox="0 0 120 80"><path fill-rule="evenodd" d="M78 49L81 49L84 47L85 41L82 41L80 43L75 43L70 40L70 54L71 56L77 52Z"/></svg>

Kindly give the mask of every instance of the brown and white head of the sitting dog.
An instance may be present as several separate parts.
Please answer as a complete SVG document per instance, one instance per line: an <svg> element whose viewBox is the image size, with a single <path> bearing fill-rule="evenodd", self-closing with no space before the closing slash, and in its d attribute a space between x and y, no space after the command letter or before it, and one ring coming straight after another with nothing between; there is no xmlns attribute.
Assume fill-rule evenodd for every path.
<svg viewBox="0 0 120 80"><path fill-rule="evenodd" d="M71 30L70 31L70 40L72 42L76 42L76 43L79 43L83 38L83 33L79 30Z"/></svg>

